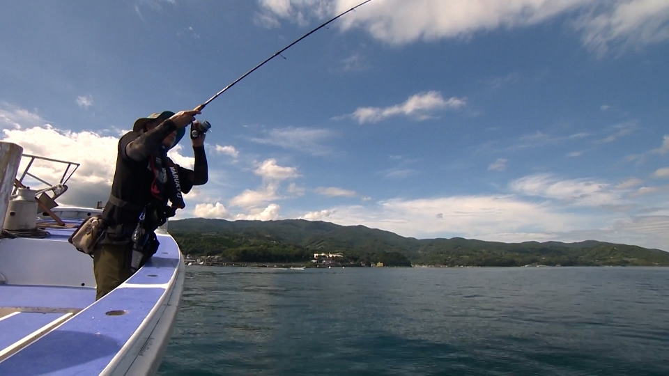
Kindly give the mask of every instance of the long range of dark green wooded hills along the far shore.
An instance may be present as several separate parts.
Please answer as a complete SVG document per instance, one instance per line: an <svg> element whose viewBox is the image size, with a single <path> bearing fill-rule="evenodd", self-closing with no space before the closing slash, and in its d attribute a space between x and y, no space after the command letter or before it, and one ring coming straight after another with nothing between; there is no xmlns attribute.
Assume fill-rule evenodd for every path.
<svg viewBox="0 0 669 376"><path fill-rule="evenodd" d="M501 243L463 238L417 240L364 226L320 221L171 221L183 253L221 256L231 262L302 263L314 253L342 253L351 265L669 266L669 253L640 246L588 240L578 243Z"/></svg>

